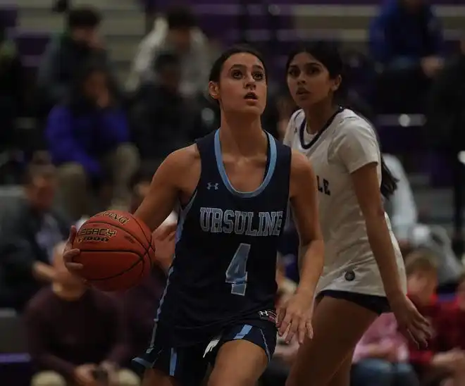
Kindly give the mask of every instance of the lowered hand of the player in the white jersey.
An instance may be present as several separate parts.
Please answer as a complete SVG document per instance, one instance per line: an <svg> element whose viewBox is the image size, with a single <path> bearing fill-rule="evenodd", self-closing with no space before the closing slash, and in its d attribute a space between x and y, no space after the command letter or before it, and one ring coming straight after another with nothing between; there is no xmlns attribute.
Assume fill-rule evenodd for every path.
<svg viewBox="0 0 465 386"><path fill-rule="evenodd" d="M407 295L400 294L395 299L389 299L389 302L399 331L418 347L428 347L428 340L433 335L430 323L419 313Z"/></svg>

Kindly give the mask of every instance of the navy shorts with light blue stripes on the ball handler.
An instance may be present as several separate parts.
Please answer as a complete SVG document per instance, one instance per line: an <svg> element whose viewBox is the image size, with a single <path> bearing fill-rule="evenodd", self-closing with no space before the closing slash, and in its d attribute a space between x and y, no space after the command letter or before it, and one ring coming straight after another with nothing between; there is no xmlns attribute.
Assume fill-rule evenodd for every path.
<svg viewBox="0 0 465 386"><path fill-rule="evenodd" d="M248 340L261 347L269 361L275 351L276 335L274 323L260 321L254 325L232 324L224 328L217 337L186 347L159 347L155 337L154 344L144 355L133 359L133 362L146 369L156 368L178 380L182 386L197 386L202 384L208 366L214 364L218 349L225 342Z"/></svg>

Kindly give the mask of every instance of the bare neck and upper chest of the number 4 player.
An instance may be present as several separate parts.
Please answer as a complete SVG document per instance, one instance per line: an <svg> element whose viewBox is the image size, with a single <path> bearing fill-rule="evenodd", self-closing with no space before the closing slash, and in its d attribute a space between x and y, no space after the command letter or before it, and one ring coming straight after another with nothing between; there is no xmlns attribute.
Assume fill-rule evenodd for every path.
<svg viewBox="0 0 465 386"><path fill-rule="evenodd" d="M268 143L261 128L260 117L244 120L243 117L221 117L221 149L242 156L257 154Z"/></svg>

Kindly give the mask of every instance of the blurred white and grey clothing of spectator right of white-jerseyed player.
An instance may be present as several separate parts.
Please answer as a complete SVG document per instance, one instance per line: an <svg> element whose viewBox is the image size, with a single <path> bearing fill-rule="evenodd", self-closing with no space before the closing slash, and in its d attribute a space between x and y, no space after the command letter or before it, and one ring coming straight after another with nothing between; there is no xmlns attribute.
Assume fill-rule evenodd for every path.
<svg viewBox="0 0 465 386"><path fill-rule="evenodd" d="M391 154L384 154L384 159L386 166L398 180L397 190L385 201L385 209L399 245L404 254L416 248L423 248L438 256L438 282L441 290L447 290L447 287L456 284L462 269L459 259L452 251L450 237L447 231L438 225L419 223L414 195L402 163Z"/></svg>

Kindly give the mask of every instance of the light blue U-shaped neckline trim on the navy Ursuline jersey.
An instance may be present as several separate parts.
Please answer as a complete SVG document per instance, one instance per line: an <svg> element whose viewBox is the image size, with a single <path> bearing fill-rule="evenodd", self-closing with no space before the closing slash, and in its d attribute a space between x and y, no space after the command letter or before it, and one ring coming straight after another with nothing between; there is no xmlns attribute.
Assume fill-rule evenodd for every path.
<svg viewBox="0 0 465 386"><path fill-rule="evenodd" d="M268 135L268 143L270 144L270 159L268 160L269 166L268 166L268 171L266 172L266 176L265 178L263 178L263 182L261 182L261 185L257 189L255 189L253 192L240 192L234 189L233 185L231 185L231 182L228 179L228 175L226 174L225 166L223 163L223 156L221 154L220 130L216 130L216 133L215 133L216 166L218 167L218 172L221 175L223 184L232 194L235 194L235 196L239 196L244 199L256 197L261 192L263 192L263 190L268 186L268 183L271 181L271 178L273 177L273 173L275 171L275 166L276 166L277 150L276 150L276 142L273 136L270 135L268 132L266 133L266 135Z"/></svg>

